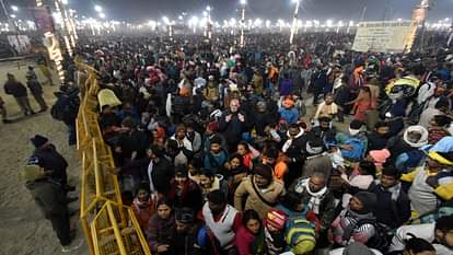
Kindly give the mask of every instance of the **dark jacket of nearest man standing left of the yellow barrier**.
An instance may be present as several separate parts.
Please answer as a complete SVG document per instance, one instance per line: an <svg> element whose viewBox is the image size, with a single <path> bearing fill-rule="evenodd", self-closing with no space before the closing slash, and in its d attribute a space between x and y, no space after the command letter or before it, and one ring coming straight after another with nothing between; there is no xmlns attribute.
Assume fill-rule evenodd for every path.
<svg viewBox="0 0 453 255"><path fill-rule="evenodd" d="M44 178L27 182L25 187L32 194L33 199L46 219L68 215L66 193L60 184Z"/></svg>

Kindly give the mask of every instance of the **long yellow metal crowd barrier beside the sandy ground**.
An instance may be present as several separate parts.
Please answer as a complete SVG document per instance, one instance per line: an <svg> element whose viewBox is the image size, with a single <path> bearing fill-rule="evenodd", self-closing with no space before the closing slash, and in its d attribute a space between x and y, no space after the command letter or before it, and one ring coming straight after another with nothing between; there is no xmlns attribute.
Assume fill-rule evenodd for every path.
<svg viewBox="0 0 453 255"><path fill-rule="evenodd" d="M82 159L80 223L91 255L151 255L130 207L123 205L115 162L97 123L96 70L76 61L89 73L81 86L77 149Z"/></svg>

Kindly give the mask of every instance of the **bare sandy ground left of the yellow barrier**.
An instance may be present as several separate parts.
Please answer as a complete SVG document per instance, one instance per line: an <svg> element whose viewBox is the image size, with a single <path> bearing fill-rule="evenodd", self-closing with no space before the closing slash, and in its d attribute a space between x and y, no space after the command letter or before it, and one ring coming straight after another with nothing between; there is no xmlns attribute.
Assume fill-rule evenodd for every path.
<svg viewBox="0 0 453 255"><path fill-rule="evenodd" d="M77 187L81 163L76 153L76 147L68 146L66 126L54 120L49 111L32 117L22 117L14 98L4 94L3 83L7 72L15 74L18 80L25 83L25 65L27 62L22 61L18 69L16 62L0 62L0 96L7 103L9 116L14 119L19 118L13 124L0 123L0 165L3 165L0 177L0 255L62 254L50 222L42 216L23 182L18 178L18 172L33 152L30 138L35 134L48 137L57 146L58 151L69 162L69 182ZM40 76L42 73L39 71L36 73L43 82L45 79ZM45 84L44 90L45 98L51 106L56 100L53 92L58 90L58 86ZM31 95L30 101L37 112L39 106ZM78 202L71 204L70 208L78 209ZM77 237L81 239L82 232L77 216L71 219L71 223L78 228ZM80 250L68 254L89 254L89 252L84 244Z"/></svg>

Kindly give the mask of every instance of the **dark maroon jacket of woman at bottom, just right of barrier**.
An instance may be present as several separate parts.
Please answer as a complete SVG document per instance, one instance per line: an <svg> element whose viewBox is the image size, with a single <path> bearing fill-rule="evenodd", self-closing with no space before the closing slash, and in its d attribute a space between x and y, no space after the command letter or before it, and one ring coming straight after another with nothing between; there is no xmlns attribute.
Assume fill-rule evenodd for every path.
<svg viewBox="0 0 453 255"><path fill-rule="evenodd" d="M153 254L158 254L158 246L162 244L170 245L170 250L172 250L176 233L175 217L171 216L169 219L163 220L155 213L151 217L146 233Z"/></svg>

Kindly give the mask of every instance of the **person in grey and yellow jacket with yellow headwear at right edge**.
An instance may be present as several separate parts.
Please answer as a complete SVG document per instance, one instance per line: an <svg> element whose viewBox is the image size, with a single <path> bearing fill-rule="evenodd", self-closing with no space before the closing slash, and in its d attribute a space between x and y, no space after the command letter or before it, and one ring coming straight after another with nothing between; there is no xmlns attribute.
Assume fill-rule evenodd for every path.
<svg viewBox="0 0 453 255"><path fill-rule="evenodd" d="M430 151L425 165L402 176L410 185L413 218L432 212L440 202L453 198L452 166L453 152Z"/></svg>

